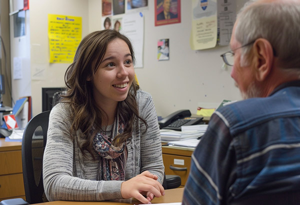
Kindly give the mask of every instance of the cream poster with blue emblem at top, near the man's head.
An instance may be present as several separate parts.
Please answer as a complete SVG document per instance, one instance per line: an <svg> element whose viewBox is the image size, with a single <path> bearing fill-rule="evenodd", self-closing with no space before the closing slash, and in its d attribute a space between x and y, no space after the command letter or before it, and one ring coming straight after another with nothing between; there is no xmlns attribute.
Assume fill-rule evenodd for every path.
<svg viewBox="0 0 300 205"><path fill-rule="evenodd" d="M190 47L211 48L217 40L216 0L192 0Z"/></svg>

